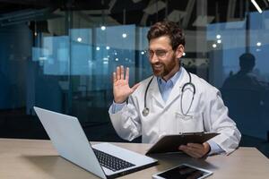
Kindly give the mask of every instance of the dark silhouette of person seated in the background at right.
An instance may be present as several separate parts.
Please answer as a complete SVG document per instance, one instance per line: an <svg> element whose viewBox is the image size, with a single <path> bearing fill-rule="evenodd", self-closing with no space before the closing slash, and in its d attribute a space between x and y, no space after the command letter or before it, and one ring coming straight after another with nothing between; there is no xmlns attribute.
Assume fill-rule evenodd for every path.
<svg viewBox="0 0 269 179"><path fill-rule="evenodd" d="M241 132L250 136L263 138L268 127L261 123L263 115L268 111L266 104L265 81L253 72L256 58L250 53L239 56L239 72L230 75L221 88L222 98L230 107L233 117ZM267 108L266 108L267 107ZM259 123L259 130L253 130L253 124Z"/></svg>

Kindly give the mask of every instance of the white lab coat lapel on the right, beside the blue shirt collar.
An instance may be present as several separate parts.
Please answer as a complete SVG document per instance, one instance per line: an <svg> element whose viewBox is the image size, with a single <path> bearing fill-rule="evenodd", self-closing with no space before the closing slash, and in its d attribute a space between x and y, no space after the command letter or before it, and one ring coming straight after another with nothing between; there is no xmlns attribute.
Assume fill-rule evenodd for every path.
<svg viewBox="0 0 269 179"><path fill-rule="evenodd" d="M179 77L178 81L176 82L175 86L171 90L171 93L169 94L169 98L166 102L166 107L169 107L170 103L172 103L175 99L179 98L179 95L181 94L181 89L183 85L189 81L188 74L185 68L182 68L182 77Z"/></svg>

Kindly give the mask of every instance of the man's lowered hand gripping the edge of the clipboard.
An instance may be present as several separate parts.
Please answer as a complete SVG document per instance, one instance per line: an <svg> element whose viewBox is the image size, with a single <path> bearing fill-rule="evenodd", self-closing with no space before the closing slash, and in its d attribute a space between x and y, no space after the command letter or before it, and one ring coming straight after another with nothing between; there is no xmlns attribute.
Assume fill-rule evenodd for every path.
<svg viewBox="0 0 269 179"><path fill-rule="evenodd" d="M200 143L187 143L187 145L180 145L178 149L187 153L193 158L203 158L204 155L210 152L210 145L207 142Z"/></svg>

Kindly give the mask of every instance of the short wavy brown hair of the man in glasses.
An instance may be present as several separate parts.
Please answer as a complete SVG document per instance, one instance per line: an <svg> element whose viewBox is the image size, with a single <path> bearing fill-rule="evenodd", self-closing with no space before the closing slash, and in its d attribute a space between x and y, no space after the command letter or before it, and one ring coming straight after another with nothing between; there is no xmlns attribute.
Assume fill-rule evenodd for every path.
<svg viewBox="0 0 269 179"><path fill-rule="evenodd" d="M178 24L173 21L159 21L152 25L148 31L148 41L153 38L160 38L161 36L168 36L170 45L173 50L177 49L179 45L185 46L185 36L183 30L179 28Z"/></svg>

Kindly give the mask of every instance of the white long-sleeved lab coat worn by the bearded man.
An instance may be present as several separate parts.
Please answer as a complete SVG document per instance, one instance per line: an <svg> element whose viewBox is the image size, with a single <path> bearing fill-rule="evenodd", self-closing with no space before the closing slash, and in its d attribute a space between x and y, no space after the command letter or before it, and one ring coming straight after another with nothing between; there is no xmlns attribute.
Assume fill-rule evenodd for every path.
<svg viewBox="0 0 269 179"><path fill-rule="evenodd" d="M228 108L224 106L220 91L191 73L195 84L195 98L190 111L184 117L180 109L181 89L189 81L187 71L182 68L182 78L174 85L166 102L163 101L154 77L147 93L146 106L150 113L143 116L144 94L152 77L142 81L138 89L128 98L128 103L116 114L109 115L117 134L128 141L142 135L144 143L154 143L162 135L179 132L220 132L212 140L221 149L230 153L239 146L241 134L236 124L228 116ZM187 85L183 93L183 111L187 112L193 96L193 88Z"/></svg>

